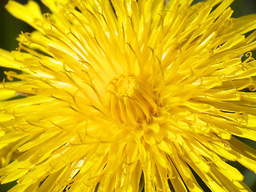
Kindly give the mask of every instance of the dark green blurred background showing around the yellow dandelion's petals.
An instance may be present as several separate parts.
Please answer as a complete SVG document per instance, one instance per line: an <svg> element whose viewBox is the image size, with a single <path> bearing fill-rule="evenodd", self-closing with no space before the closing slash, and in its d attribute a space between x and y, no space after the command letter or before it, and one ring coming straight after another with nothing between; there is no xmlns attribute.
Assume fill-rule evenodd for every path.
<svg viewBox="0 0 256 192"><path fill-rule="evenodd" d="M17 2L20 2L22 4L26 4L26 0L16 0ZM28 26L25 22L19 21L18 19L14 18L12 15L10 15L4 8L8 0L0 0L0 48L4 50L15 50L15 48L18 47L18 42L15 40L18 37L18 34L23 32L30 32L33 30L30 26ZM42 2L35 0L35 2L38 2L40 6L42 7L42 13L47 13L49 10L46 8L46 6L43 6ZM202 2L202 1L194 1L194 2ZM256 0L235 0L233 4L231 5L231 8L234 10L233 17L237 18L242 15L246 14L256 14ZM254 58L255 52L254 52ZM0 67L0 81L2 82L2 79L5 77L3 74L3 68ZM256 143L252 142L248 139L241 139L243 142L246 142L246 144L254 147L256 149ZM252 191L256 191L256 174L254 174L252 171L247 170L245 167L241 166L239 163L236 162L230 162L232 166L235 166L238 170L242 172L242 174L245 176L244 182L247 186L250 187ZM198 182L200 179L198 178ZM0 185L0 192L6 192L7 190L10 190L12 186L14 186L16 183L8 183L4 185ZM201 183L203 189L205 191L210 191L206 186L203 186Z"/></svg>

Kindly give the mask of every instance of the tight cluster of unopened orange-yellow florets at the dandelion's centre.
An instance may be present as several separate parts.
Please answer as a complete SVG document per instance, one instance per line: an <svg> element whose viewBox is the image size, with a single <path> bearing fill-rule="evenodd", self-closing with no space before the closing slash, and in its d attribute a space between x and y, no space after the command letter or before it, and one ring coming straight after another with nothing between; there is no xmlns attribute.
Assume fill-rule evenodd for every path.
<svg viewBox="0 0 256 192"><path fill-rule="evenodd" d="M154 90L135 77L114 78L106 86L106 107L111 116L130 126L141 126L158 110Z"/></svg>

